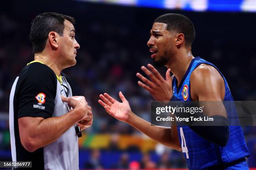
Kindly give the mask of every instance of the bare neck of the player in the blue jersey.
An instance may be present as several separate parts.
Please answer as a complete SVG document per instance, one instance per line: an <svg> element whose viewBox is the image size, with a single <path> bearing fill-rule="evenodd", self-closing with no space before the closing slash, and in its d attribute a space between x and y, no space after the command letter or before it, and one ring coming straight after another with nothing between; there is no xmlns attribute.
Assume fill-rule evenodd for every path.
<svg viewBox="0 0 256 170"><path fill-rule="evenodd" d="M195 57L192 55L191 51L184 52L182 54L173 56L170 62L166 65L166 67L170 68L171 72L176 77L178 85L182 81L182 78L187 72L189 64L193 58Z"/></svg>

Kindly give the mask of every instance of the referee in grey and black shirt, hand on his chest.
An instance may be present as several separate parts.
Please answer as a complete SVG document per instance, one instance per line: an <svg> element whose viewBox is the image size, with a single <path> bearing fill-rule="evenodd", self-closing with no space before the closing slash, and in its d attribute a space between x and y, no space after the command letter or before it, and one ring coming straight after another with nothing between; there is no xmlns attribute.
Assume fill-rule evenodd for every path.
<svg viewBox="0 0 256 170"><path fill-rule="evenodd" d="M76 64L74 23L58 13L36 16L30 32L34 61L10 92L12 159L32 161L33 170L79 170L80 130L92 125L91 107L83 96L72 97L71 81L61 73Z"/></svg>

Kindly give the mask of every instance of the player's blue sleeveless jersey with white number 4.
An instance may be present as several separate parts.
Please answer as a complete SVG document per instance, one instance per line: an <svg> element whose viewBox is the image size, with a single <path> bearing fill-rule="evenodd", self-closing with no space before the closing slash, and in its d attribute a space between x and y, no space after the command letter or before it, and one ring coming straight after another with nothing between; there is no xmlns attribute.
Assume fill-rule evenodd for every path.
<svg viewBox="0 0 256 170"><path fill-rule="evenodd" d="M172 83L173 95L178 100L191 101L190 75L192 71L195 70L195 68L202 63L215 67L215 65L213 65L212 63L207 62L200 57L196 57L191 61L187 72L185 73L182 81L180 82L179 87L177 87L177 79L174 77ZM221 72L220 75L222 75ZM225 82L224 101L233 101L233 97L228 87L228 83L224 77L223 79ZM227 114L237 114L234 107L230 107L230 110L231 111L227 110ZM228 115L228 117L230 117L231 115ZM249 156L249 151L244 140L243 132L241 126L239 126L239 120L235 121L237 122L232 122L232 125L236 124L238 126L229 126L229 140L225 147L220 147L215 143L211 143L197 135L197 133L192 131L189 126L184 126L177 123L179 141L182 146L182 152L184 153L184 157L187 160L189 170L204 170L215 165L231 163L233 161Z"/></svg>

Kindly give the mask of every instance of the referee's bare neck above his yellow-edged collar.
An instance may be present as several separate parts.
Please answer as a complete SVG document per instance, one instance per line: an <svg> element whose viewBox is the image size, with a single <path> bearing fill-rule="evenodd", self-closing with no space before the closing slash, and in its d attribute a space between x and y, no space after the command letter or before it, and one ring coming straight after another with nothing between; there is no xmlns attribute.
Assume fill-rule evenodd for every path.
<svg viewBox="0 0 256 170"><path fill-rule="evenodd" d="M50 67L57 76L61 75L61 65L59 60L57 60L57 57L51 57L44 53L36 53L34 60L43 62L45 65Z"/></svg>

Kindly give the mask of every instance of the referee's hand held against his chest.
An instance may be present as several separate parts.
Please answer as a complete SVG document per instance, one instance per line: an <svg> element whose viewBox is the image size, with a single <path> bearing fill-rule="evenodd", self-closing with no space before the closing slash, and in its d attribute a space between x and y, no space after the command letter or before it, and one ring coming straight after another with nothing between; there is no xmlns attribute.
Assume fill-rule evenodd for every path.
<svg viewBox="0 0 256 170"><path fill-rule="evenodd" d="M79 120L82 120L84 116L87 116L88 105L84 96L65 97L61 95L61 100L63 102L67 102L69 107L72 107L73 110L76 110L76 114L79 115Z"/></svg>

